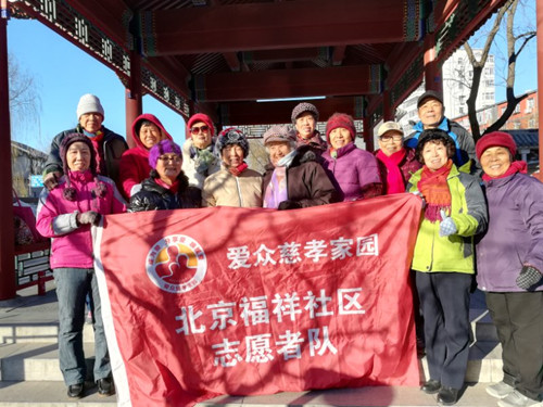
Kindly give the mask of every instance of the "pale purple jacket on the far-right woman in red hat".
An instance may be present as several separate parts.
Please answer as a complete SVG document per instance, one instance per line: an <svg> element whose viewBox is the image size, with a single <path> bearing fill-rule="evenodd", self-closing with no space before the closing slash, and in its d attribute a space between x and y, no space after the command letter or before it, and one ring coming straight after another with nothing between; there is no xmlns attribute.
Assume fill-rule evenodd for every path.
<svg viewBox="0 0 543 407"><path fill-rule="evenodd" d="M515 280L523 264L543 271L543 183L519 173L484 183L489 228L477 244L477 283L483 291L521 292Z"/></svg>

